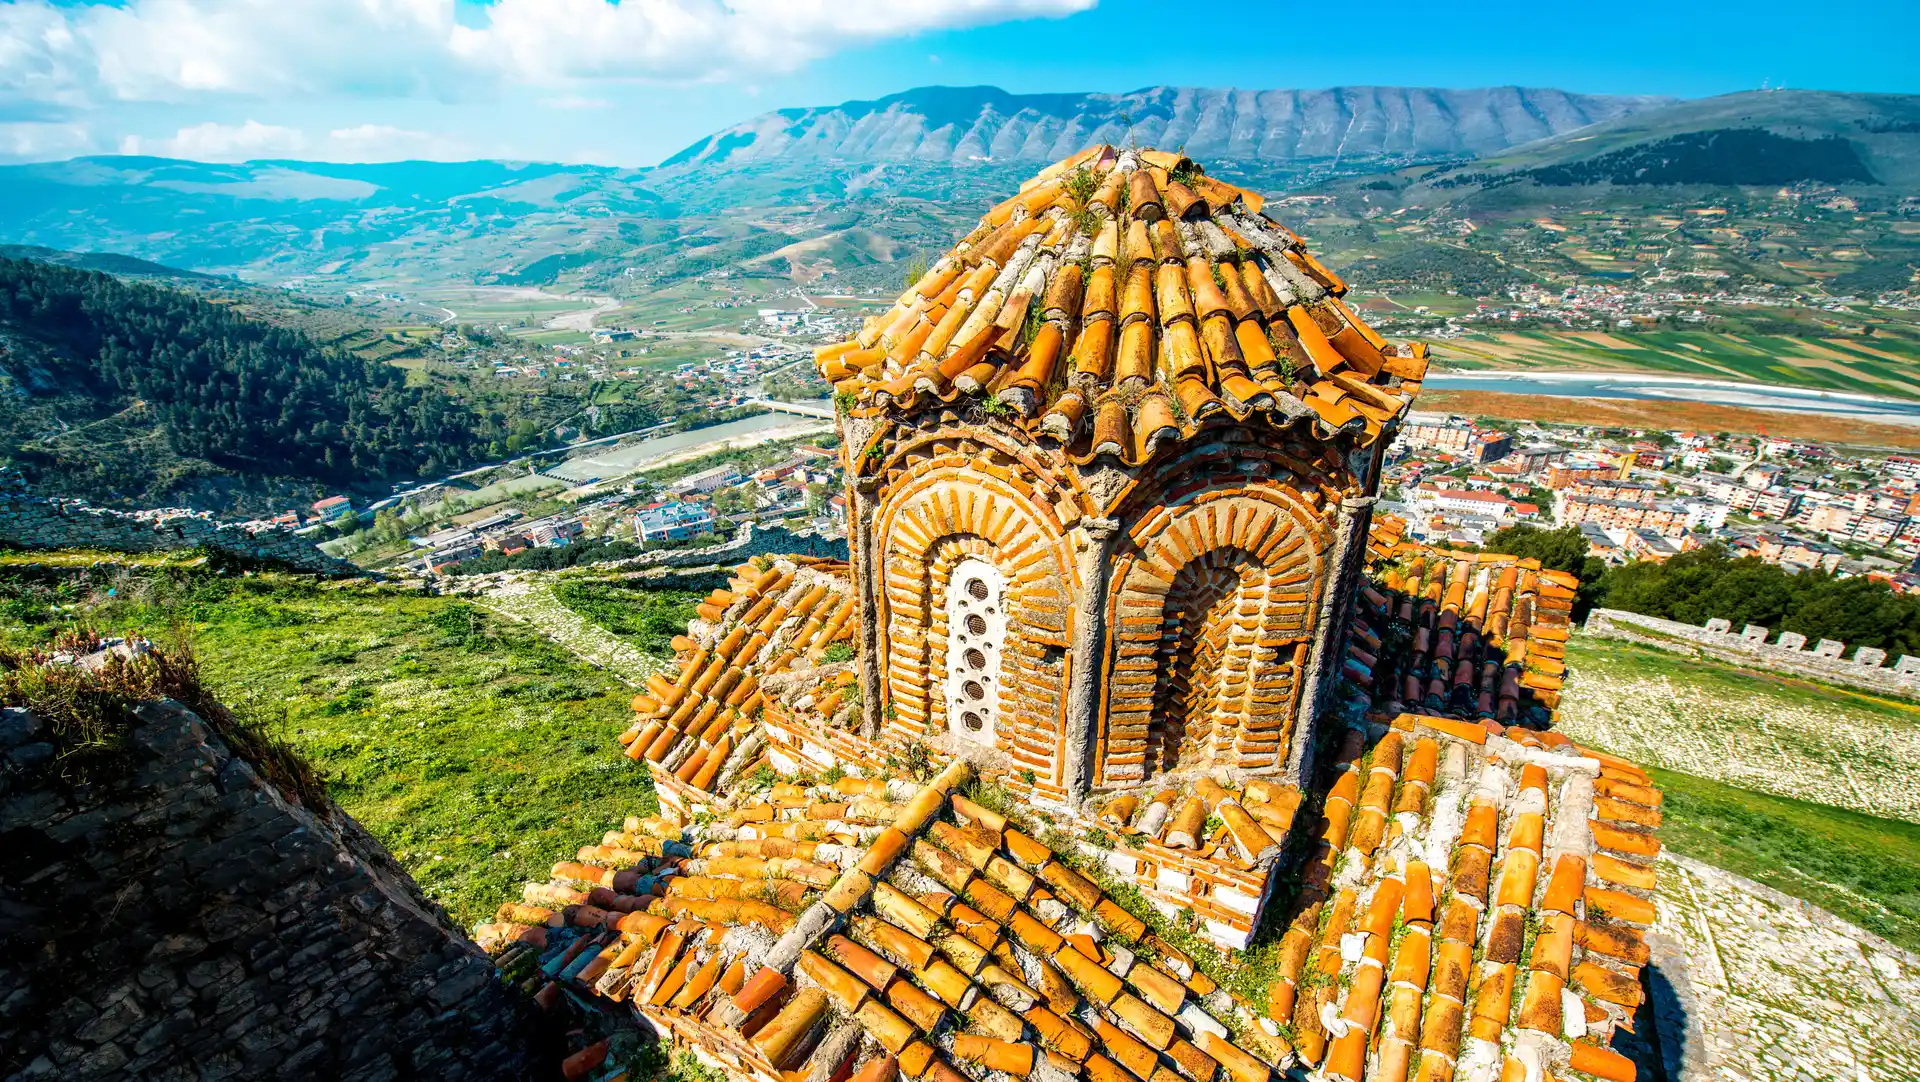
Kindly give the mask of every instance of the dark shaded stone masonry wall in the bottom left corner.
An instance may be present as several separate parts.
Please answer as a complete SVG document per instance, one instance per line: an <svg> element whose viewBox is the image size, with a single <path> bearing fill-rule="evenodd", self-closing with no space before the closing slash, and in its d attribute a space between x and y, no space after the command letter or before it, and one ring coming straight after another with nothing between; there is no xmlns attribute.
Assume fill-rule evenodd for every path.
<svg viewBox="0 0 1920 1082"><path fill-rule="evenodd" d="M194 714L65 777L0 710L0 1078L536 1078L532 1011L357 823Z"/></svg>

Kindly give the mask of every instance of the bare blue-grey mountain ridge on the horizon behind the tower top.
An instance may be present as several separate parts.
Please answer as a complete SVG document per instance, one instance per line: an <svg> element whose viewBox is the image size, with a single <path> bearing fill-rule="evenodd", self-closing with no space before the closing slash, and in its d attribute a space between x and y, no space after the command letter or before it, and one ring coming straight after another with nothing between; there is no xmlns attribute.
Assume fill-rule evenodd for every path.
<svg viewBox="0 0 1920 1082"><path fill-rule="evenodd" d="M1129 94L918 86L874 102L762 113L687 146L660 169L808 157L1058 161L1127 138L1233 161L1478 157L1674 102L1526 86L1148 86Z"/></svg>

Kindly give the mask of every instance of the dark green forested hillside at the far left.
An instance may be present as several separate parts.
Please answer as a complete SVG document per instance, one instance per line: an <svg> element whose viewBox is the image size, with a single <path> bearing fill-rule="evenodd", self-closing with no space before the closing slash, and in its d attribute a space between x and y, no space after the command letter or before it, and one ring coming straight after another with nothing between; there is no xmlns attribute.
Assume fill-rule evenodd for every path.
<svg viewBox="0 0 1920 1082"><path fill-rule="evenodd" d="M397 368L194 294L48 263L0 259L0 376L13 384L0 460L29 474L61 470L38 437L129 411L179 457L330 483L430 474L486 449L468 407Z"/></svg>

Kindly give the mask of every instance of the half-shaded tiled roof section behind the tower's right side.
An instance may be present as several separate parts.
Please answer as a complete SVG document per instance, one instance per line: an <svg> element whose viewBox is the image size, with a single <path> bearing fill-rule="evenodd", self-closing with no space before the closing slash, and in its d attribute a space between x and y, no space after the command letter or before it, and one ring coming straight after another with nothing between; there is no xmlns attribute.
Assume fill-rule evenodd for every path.
<svg viewBox="0 0 1920 1082"><path fill-rule="evenodd" d="M1375 522L1373 585L1356 606L1344 675L1377 708L1546 723L1567 675L1578 579L1540 560L1432 549Z"/></svg>

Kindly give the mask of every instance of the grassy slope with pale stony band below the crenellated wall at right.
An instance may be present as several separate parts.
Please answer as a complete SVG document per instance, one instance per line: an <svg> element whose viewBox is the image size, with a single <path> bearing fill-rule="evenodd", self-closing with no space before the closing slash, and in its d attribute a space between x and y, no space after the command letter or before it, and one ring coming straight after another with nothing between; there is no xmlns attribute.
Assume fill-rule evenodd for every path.
<svg viewBox="0 0 1920 1082"><path fill-rule="evenodd" d="M1559 731L1647 767L1670 850L1920 950L1920 706L1584 637L1567 668Z"/></svg>

